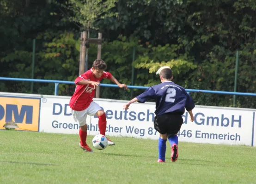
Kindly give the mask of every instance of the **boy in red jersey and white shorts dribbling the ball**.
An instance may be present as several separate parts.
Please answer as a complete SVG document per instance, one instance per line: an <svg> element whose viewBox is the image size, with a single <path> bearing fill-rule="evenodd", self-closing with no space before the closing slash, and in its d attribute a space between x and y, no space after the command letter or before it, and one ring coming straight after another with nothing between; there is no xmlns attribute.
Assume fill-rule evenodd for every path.
<svg viewBox="0 0 256 184"><path fill-rule="evenodd" d="M95 87L100 85L100 81L102 79L109 79L110 81L116 83L120 88L125 88L128 90L128 87L125 84L120 84L116 78L112 76L112 74L105 72L104 70L106 68L107 65L102 59L96 59L93 62L91 69L76 78L75 84L77 86L69 103L69 106L72 109L71 112L73 114L74 121L78 122L80 125L79 147L86 152L93 152L91 148L86 144L86 116L98 116L98 127L100 134L105 135L107 127L105 112L96 102L93 102L92 100L95 95ZM107 139L108 145L115 145L115 143L112 142L109 138Z"/></svg>

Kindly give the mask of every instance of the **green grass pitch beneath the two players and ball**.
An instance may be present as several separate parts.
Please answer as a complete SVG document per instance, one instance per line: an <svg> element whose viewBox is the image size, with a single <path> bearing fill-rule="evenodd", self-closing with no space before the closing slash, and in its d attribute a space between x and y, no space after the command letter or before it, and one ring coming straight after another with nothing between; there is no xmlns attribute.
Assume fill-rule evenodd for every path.
<svg viewBox="0 0 256 184"><path fill-rule="evenodd" d="M256 183L255 147L180 142L171 162L167 142L167 163L157 163L157 140L111 139L85 153L78 135L0 131L0 184Z"/></svg>

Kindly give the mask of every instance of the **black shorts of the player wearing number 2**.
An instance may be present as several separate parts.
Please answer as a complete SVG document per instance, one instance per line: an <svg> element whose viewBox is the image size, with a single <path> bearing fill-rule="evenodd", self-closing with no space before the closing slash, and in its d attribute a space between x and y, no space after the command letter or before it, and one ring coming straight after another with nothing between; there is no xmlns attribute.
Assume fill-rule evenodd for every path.
<svg viewBox="0 0 256 184"><path fill-rule="evenodd" d="M160 134L167 133L167 138L174 136L180 131L183 118L180 114L156 115L154 127Z"/></svg>

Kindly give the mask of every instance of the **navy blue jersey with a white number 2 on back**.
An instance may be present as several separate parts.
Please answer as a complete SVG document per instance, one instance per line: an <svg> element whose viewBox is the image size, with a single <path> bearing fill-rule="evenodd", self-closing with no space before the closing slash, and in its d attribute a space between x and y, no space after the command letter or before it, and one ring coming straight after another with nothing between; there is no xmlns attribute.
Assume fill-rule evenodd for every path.
<svg viewBox="0 0 256 184"><path fill-rule="evenodd" d="M140 103L154 99L156 102L156 115L166 113L183 115L185 108L189 111L195 107L192 98L186 90L171 81L151 86L136 98Z"/></svg>

